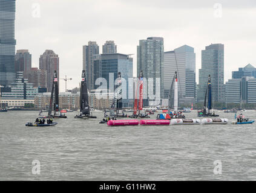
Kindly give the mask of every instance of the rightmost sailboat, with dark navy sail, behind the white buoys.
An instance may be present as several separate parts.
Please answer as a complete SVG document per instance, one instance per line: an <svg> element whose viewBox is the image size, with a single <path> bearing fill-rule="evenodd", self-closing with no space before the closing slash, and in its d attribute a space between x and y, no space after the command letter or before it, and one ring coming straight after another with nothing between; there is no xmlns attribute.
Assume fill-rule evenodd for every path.
<svg viewBox="0 0 256 193"><path fill-rule="evenodd" d="M206 108L206 98L208 95L208 108ZM215 113L211 112L212 110L212 83L211 83L211 75L208 77L207 89L205 92L205 102L203 103L203 110L198 113L197 116L218 116Z"/></svg>

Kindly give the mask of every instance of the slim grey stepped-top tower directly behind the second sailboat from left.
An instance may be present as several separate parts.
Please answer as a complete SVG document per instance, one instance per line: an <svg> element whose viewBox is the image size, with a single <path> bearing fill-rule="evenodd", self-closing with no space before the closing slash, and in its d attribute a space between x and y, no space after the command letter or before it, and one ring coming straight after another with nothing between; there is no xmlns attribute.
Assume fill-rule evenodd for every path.
<svg viewBox="0 0 256 193"><path fill-rule="evenodd" d="M83 69L85 70L88 90L92 90L94 86L94 67L93 55L99 54L99 46L96 42L88 42L83 46Z"/></svg>

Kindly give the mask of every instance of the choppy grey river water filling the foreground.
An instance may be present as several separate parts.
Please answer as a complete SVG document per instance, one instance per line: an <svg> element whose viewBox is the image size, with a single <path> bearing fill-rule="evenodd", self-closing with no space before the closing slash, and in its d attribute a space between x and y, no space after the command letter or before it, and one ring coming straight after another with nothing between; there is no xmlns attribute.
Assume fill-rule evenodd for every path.
<svg viewBox="0 0 256 193"><path fill-rule="evenodd" d="M151 127L108 127L98 124L103 113L90 120L75 113L42 128L24 126L38 112L0 113L0 180L256 180L255 124L232 125L234 113L218 112L228 125ZM244 115L256 120L254 110Z"/></svg>

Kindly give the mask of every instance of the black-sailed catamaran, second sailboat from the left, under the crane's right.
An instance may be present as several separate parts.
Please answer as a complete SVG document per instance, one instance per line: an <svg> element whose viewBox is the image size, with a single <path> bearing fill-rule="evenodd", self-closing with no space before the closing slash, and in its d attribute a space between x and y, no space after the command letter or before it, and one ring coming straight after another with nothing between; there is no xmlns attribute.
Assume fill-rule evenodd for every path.
<svg viewBox="0 0 256 193"><path fill-rule="evenodd" d="M87 83L85 78L85 70L82 71L82 80L80 84L80 115L74 116L77 119L87 119L87 118L94 118L96 116L90 115L90 106L88 100L88 90L87 90Z"/></svg>

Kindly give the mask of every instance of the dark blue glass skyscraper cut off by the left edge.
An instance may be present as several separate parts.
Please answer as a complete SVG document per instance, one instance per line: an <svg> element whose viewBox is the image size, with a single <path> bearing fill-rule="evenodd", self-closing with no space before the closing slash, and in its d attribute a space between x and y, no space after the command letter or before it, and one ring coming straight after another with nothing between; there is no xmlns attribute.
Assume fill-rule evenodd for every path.
<svg viewBox="0 0 256 193"><path fill-rule="evenodd" d="M15 0L0 0L0 85L15 83Z"/></svg>

